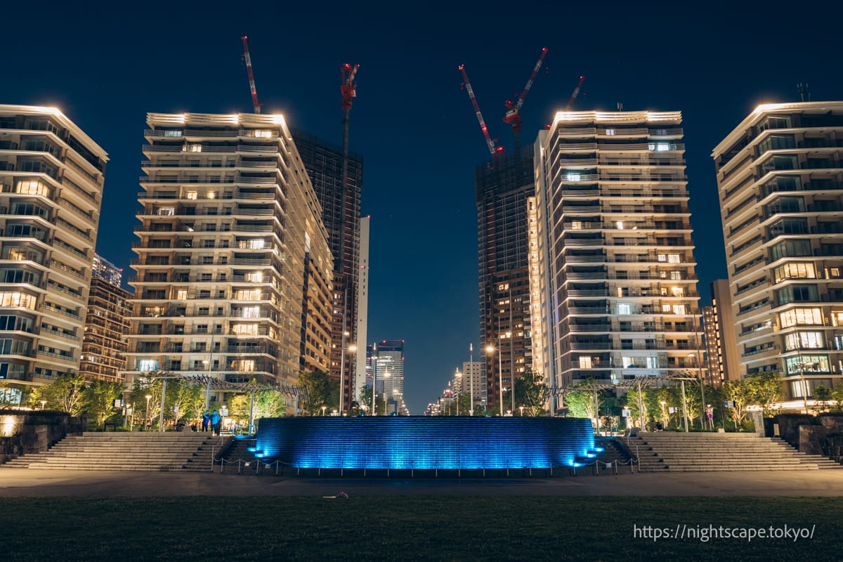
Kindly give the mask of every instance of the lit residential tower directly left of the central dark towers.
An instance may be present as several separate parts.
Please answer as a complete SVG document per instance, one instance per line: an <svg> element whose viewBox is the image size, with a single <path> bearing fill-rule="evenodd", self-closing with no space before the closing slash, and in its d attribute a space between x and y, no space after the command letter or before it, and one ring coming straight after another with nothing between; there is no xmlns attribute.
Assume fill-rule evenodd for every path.
<svg viewBox="0 0 843 562"><path fill-rule="evenodd" d="M129 382L163 370L296 383L326 365L330 249L283 116L147 122Z"/></svg>

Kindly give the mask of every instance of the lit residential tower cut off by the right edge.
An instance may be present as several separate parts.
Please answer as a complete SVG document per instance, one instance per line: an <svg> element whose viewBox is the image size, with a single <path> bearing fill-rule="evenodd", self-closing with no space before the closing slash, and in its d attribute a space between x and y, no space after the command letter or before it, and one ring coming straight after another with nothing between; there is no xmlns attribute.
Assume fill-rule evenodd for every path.
<svg viewBox="0 0 843 562"><path fill-rule="evenodd" d="M760 105L711 156L742 371L804 407L843 372L843 102Z"/></svg>

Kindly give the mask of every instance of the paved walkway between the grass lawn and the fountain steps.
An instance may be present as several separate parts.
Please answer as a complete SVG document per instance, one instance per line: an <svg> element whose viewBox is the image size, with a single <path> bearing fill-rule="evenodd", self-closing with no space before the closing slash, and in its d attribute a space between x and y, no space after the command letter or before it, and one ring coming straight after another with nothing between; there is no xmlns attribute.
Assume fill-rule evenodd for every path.
<svg viewBox="0 0 843 562"><path fill-rule="evenodd" d="M510 479L330 479L0 468L0 497L187 495L843 496L843 470L601 474Z"/></svg>

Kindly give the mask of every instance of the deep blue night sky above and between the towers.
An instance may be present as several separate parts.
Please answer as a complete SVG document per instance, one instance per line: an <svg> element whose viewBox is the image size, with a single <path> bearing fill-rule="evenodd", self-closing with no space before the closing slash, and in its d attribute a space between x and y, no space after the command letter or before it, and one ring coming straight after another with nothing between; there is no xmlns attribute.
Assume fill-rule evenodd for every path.
<svg viewBox="0 0 843 562"><path fill-rule="evenodd" d="M368 340L405 340L405 399L420 414L469 344L479 353L474 168L491 135L513 147L503 102L524 88L522 143L583 74L575 110L680 110L701 303L726 276L711 149L756 104L843 98L840 3L787 10L706 3L13 3L3 8L4 104L56 106L109 153L97 251L129 269L147 112L249 113L241 35L263 113L337 145L340 67L360 64L351 149L372 217ZM119 3L115 3L119 5ZM133 6L136 13L123 13ZM802 9L810 10L803 13Z"/></svg>

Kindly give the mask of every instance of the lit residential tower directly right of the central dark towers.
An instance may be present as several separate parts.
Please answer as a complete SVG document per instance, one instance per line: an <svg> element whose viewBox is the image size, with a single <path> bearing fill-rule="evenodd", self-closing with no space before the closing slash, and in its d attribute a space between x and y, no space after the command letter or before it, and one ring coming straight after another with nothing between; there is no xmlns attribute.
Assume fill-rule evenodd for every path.
<svg viewBox="0 0 843 562"><path fill-rule="evenodd" d="M540 132L534 330L551 388L703 374L681 123L566 111Z"/></svg>

